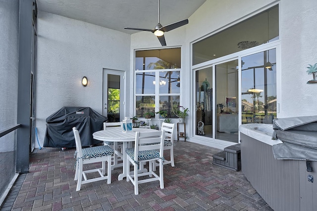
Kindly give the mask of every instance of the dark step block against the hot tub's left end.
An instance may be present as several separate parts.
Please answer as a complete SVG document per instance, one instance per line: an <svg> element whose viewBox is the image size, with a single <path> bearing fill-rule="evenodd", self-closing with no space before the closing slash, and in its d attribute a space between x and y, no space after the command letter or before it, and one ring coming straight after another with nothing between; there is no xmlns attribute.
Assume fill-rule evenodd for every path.
<svg viewBox="0 0 317 211"><path fill-rule="evenodd" d="M212 156L212 164L229 168L235 171L241 170L241 148L240 144L232 145L223 149L224 151Z"/></svg>

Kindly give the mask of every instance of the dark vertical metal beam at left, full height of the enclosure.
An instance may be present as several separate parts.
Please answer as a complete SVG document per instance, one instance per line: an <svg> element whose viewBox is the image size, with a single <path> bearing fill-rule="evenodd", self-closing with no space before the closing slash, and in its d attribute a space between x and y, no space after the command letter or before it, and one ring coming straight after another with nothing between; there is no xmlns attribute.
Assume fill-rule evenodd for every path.
<svg viewBox="0 0 317 211"><path fill-rule="evenodd" d="M19 5L19 74L16 143L16 172L29 172L30 98L33 0L20 0Z"/></svg>

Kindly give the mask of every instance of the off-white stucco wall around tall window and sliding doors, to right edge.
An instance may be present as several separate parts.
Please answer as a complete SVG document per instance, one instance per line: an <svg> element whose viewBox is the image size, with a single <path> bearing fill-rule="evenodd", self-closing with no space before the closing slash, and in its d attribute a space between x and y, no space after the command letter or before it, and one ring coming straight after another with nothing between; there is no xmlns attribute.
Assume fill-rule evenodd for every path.
<svg viewBox="0 0 317 211"><path fill-rule="evenodd" d="M317 62L317 21L316 0L207 0L191 17L189 24L165 33L167 47L182 46L182 77L185 84L192 84L190 43L211 35L223 26L244 18L258 10L280 2L280 40L281 52L277 65L280 74L277 78L277 97L279 118L316 115L315 106L317 84L307 84L312 75L306 73L308 64ZM162 23L169 24L169 23ZM177 32L177 33L176 33ZM185 36L179 32L185 32ZM184 39L184 40L182 40ZM133 69L133 50L160 47L157 38L148 32L131 36L131 70ZM192 107L191 86L182 86L181 104ZM184 95L185 94L185 95ZM131 101L133 98L130 99ZM192 118L190 112L189 119ZM191 131L194 125L187 124ZM190 136L192 134L189 134ZM199 142L199 140L191 139ZM213 143L221 148L222 143Z"/></svg>

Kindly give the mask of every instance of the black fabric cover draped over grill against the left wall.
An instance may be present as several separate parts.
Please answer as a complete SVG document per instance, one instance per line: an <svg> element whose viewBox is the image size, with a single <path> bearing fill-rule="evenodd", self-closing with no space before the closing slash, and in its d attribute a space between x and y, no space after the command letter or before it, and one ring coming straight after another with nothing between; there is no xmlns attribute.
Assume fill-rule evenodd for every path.
<svg viewBox="0 0 317 211"><path fill-rule="evenodd" d="M90 107L62 107L46 119L44 147L76 147L72 128L76 127L82 146L101 143L93 139L93 133L103 129L107 120Z"/></svg>

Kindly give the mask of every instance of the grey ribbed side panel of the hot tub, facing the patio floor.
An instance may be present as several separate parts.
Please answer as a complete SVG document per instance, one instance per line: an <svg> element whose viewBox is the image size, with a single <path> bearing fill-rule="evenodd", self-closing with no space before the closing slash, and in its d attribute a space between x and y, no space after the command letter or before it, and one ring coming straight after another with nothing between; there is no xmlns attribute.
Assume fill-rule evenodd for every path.
<svg viewBox="0 0 317 211"><path fill-rule="evenodd" d="M264 201L274 211L306 210L300 206L299 161L276 160L272 146L243 133L240 137L242 172Z"/></svg>

